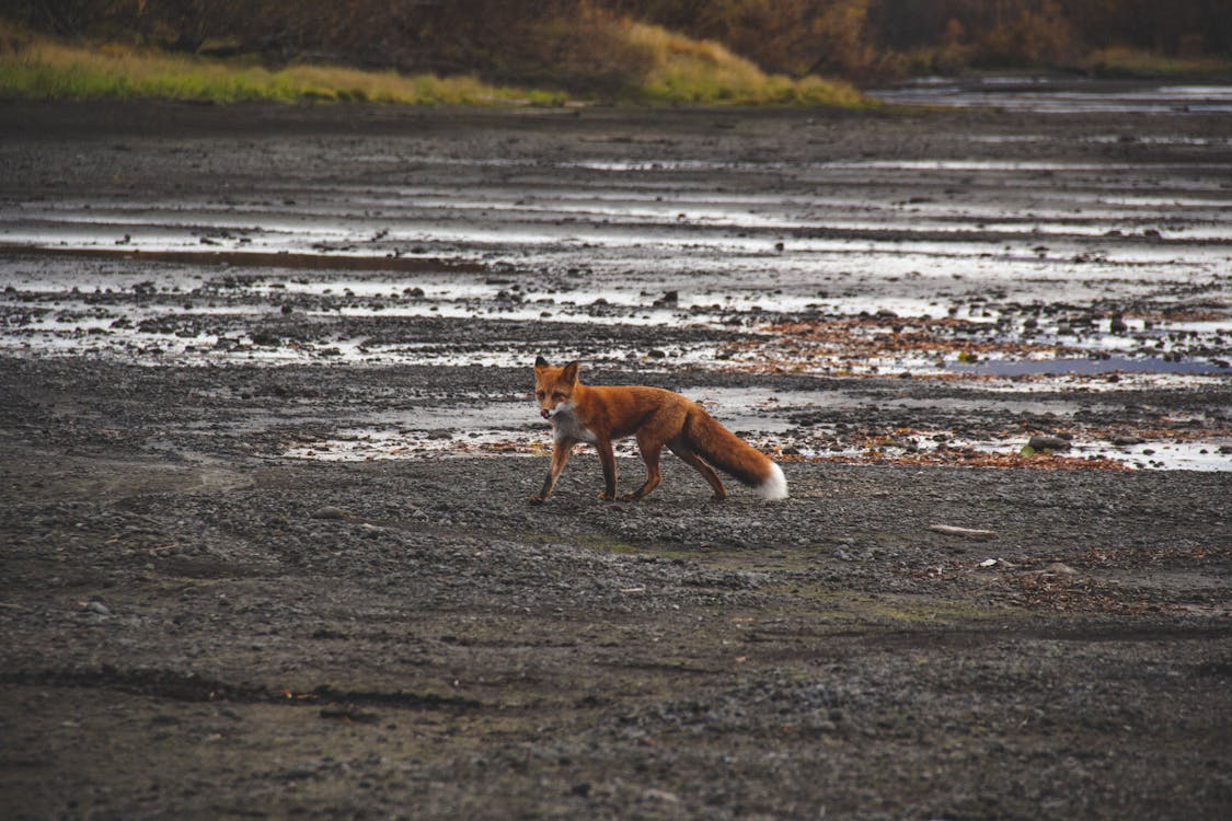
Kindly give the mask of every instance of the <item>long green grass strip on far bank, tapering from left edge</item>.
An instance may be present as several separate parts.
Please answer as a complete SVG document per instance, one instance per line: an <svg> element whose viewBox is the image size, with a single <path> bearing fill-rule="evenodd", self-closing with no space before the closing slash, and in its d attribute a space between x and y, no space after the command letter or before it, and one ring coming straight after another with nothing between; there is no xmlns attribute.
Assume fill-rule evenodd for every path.
<svg viewBox="0 0 1232 821"><path fill-rule="evenodd" d="M0 96L26 100L163 97L206 102L559 105L561 92L494 86L474 78L208 59L120 44L74 46L0 23Z"/></svg>

